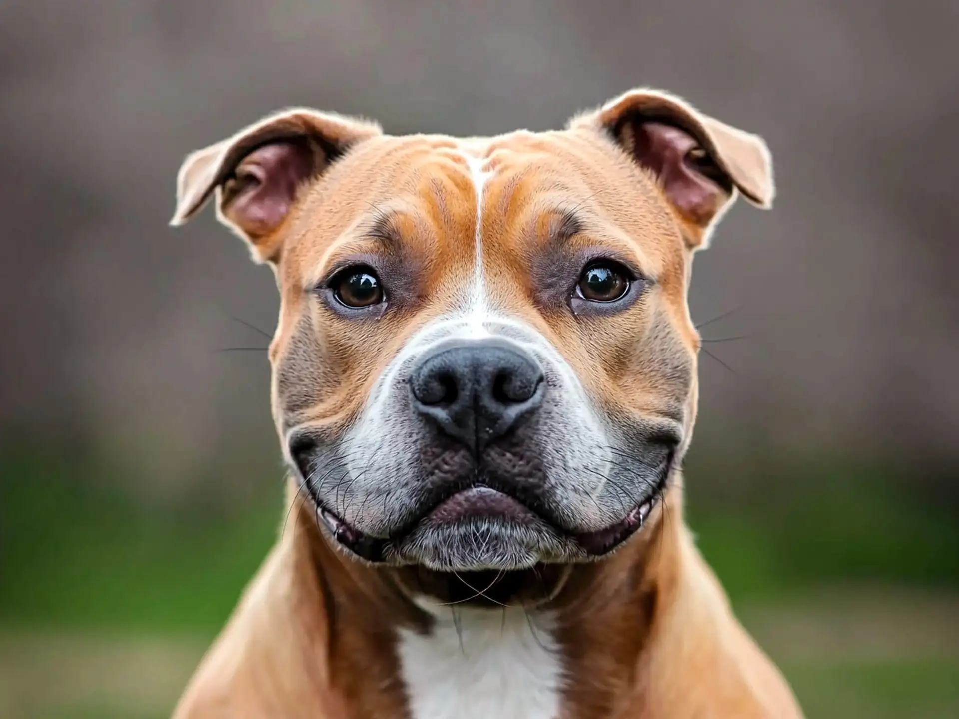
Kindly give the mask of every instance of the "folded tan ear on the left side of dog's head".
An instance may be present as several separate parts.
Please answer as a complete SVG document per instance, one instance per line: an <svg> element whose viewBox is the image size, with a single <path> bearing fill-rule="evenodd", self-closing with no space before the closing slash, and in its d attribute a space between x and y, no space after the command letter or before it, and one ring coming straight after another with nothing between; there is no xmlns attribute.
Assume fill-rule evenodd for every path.
<svg viewBox="0 0 959 719"><path fill-rule="evenodd" d="M250 244L255 260L275 263L279 230L303 183L381 132L365 120L311 109L270 115L187 156L176 177L171 224L192 218L215 194L217 217Z"/></svg>

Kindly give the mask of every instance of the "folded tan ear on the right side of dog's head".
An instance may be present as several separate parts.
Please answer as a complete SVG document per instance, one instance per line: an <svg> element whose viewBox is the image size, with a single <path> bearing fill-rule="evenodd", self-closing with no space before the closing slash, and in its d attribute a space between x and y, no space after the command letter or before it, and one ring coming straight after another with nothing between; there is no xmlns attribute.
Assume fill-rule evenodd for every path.
<svg viewBox="0 0 959 719"><path fill-rule="evenodd" d="M654 174L693 249L708 243L713 223L737 193L759 207L772 206L772 158L762 138L665 92L631 90L574 117L569 127L607 134Z"/></svg>

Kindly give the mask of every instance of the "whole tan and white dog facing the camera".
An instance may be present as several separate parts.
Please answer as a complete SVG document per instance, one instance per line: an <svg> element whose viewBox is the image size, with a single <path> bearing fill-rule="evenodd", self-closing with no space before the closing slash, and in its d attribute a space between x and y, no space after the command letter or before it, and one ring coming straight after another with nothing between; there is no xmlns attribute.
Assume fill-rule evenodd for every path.
<svg viewBox="0 0 959 719"><path fill-rule="evenodd" d="M683 522L693 253L762 140L634 90L566 129L310 109L194 152L273 268L291 518L176 717L801 716Z"/></svg>

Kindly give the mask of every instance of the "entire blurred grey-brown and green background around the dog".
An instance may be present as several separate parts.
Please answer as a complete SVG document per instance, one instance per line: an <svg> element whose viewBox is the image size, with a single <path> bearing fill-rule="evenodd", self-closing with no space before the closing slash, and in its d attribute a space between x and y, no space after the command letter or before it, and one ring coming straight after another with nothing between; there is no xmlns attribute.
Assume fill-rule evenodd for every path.
<svg viewBox="0 0 959 719"><path fill-rule="evenodd" d="M472 6L472 7L470 7ZM0 2L0 716L161 717L280 522L277 311L183 156L304 104L772 150L696 259L689 517L810 717L959 716L956 3Z"/></svg>

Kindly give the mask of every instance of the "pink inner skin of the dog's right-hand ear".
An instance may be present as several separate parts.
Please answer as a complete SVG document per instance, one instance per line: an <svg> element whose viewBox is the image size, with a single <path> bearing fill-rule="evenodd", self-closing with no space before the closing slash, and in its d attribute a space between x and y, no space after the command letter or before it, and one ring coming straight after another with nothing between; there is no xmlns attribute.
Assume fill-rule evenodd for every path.
<svg viewBox="0 0 959 719"><path fill-rule="evenodd" d="M727 194L690 162L690 150L699 143L678 128L645 123L636 128L633 151L637 161L657 174L672 204L683 217L707 224Z"/></svg>

